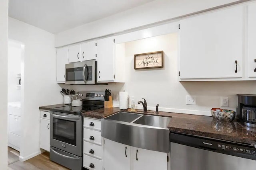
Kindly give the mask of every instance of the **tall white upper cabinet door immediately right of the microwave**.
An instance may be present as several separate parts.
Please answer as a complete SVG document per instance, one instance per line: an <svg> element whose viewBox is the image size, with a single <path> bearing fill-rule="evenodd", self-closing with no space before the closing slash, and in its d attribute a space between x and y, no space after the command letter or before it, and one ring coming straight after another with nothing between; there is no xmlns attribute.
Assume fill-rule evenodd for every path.
<svg viewBox="0 0 256 170"><path fill-rule="evenodd" d="M98 82L114 81L114 38L97 41Z"/></svg>

